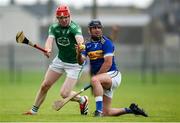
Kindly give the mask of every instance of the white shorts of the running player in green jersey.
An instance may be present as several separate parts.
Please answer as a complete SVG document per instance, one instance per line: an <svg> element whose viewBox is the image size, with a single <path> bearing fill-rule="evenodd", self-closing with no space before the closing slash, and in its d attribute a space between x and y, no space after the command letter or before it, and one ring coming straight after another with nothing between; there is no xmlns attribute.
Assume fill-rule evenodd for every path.
<svg viewBox="0 0 180 123"><path fill-rule="evenodd" d="M82 66L79 65L78 63L71 64L71 63L63 62L56 56L52 61L52 63L49 65L49 69L57 73L66 72L67 77L78 79L80 76L80 72L82 70Z"/></svg>

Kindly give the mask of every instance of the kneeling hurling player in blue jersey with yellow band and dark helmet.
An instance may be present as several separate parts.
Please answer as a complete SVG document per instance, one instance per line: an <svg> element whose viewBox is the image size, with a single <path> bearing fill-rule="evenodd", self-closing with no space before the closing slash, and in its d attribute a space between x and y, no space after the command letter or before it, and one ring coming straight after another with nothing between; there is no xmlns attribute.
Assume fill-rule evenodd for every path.
<svg viewBox="0 0 180 123"><path fill-rule="evenodd" d="M121 83L121 73L114 59L114 45L103 35L102 24L99 20L92 20L89 25L90 40L85 44L85 50L76 46L77 59L83 64L86 57L90 60L91 85L96 101L95 116L118 116L122 114L135 114L147 117L147 114L136 104L129 108L111 108L113 90Z"/></svg>

